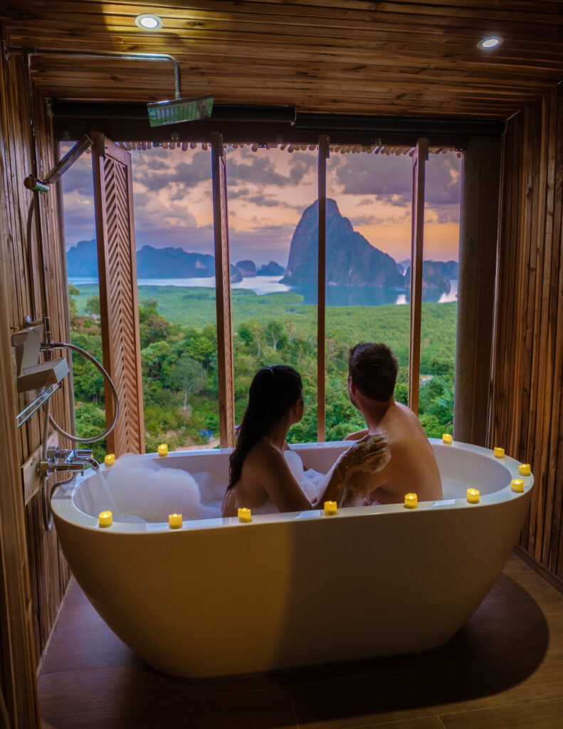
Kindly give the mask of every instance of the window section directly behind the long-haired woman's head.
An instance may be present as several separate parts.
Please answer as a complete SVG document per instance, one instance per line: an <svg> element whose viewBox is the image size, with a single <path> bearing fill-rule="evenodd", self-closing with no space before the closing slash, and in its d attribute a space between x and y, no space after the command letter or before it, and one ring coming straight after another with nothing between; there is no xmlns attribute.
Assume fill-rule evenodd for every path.
<svg viewBox="0 0 563 729"><path fill-rule="evenodd" d="M235 414L260 367L303 377L305 414L290 442L317 440L317 152L228 148Z"/></svg>

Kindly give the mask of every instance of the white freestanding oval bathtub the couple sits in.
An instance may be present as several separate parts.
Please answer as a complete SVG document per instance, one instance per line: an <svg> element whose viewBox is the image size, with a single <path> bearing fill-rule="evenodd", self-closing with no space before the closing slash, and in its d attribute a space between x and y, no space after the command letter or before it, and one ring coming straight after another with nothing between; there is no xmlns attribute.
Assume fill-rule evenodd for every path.
<svg viewBox="0 0 563 729"><path fill-rule="evenodd" d="M160 671L214 677L426 650L486 596L527 514L519 463L431 441L444 499L168 523L98 526L93 473L52 499L61 545L107 625ZM350 443L294 446L325 472ZM228 477L230 449L147 454ZM467 502L478 488L478 504ZM95 509L96 507L96 509Z"/></svg>

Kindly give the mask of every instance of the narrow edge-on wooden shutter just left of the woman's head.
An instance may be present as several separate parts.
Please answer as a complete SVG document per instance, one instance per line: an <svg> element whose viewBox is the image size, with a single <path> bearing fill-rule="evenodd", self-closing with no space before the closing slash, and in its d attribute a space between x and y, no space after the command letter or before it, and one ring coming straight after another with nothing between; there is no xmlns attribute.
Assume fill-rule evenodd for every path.
<svg viewBox="0 0 563 729"><path fill-rule="evenodd" d="M232 448L235 445L235 398L233 388L233 323L230 310L227 162L223 154L222 135L219 133L213 135L212 151L219 434L221 448Z"/></svg>

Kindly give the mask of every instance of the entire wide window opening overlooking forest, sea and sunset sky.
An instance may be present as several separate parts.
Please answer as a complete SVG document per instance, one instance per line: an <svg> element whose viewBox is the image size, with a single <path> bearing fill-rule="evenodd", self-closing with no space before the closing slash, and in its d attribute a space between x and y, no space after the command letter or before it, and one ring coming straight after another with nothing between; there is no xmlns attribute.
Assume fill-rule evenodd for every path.
<svg viewBox="0 0 563 729"><path fill-rule="evenodd" d="M325 187L319 183L316 144L222 148L233 332L230 389L218 375L216 312L223 290L215 277L213 200L219 191L212 189L211 145L144 146L149 148L131 149L131 159L147 451L161 442L173 449L216 447L228 392L233 391L237 424L257 369L278 362L295 367L305 384L306 414L290 440L314 442L317 432L322 434L319 392L325 438L341 439L363 426L346 392L347 353L359 341L391 346L400 364L395 397L408 402L409 338L416 328L410 307L408 149L389 154L381 147L332 144ZM419 332L419 416L430 436L451 432L459 175L459 155L431 150ZM63 184L72 336L101 359L87 155ZM319 198L326 204L324 238ZM317 311L319 241L326 278ZM225 237L219 245L226 244ZM319 352L323 331L324 352ZM103 383L78 359L74 383L77 426L86 437L104 429Z"/></svg>

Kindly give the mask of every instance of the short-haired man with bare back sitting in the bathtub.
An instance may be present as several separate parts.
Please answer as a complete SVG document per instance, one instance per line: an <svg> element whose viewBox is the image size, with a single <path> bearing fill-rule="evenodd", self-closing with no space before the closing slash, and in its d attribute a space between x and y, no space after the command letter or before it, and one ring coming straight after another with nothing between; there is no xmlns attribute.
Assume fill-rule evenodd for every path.
<svg viewBox="0 0 563 729"><path fill-rule="evenodd" d="M438 464L427 435L412 410L395 402L397 358L383 343L363 342L348 356L348 394L368 426L345 440L354 445L333 466L325 501L339 506L402 504L413 492L419 502L442 499Z"/></svg>

